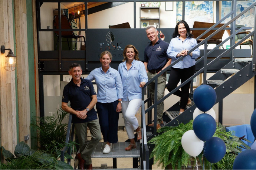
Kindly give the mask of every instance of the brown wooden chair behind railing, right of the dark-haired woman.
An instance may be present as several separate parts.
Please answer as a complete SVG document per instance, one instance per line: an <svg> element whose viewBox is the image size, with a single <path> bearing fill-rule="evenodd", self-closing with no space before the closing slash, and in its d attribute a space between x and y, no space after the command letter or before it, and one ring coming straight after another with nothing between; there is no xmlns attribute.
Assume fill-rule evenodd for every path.
<svg viewBox="0 0 256 170"><path fill-rule="evenodd" d="M204 23L204 22L198 22L195 21L194 22L194 26L193 28L210 28L211 26L213 26L214 23ZM224 24L218 24L215 28L220 28L222 27ZM192 30L191 33L194 35L194 38L199 37L199 35L203 34L206 30ZM203 37L201 37L200 39L197 40L197 43L200 43L201 41L203 41L205 38L207 38L209 35L211 35L212 33L214 33L216 30L211 30L209 31L207 34L205 34ZM219 33L215 34L213 37L211 37L207 43L208 44L216 44L219 45L222 42L222 37L224 34L225 30L221 30ZM223 45L221 45L221 47L224 49Z"/></svg>

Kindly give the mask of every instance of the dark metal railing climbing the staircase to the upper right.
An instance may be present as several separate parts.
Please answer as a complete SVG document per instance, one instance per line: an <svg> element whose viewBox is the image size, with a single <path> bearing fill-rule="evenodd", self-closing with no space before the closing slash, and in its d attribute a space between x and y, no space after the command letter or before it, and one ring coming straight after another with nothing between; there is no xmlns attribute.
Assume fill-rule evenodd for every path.
<svg viewBox="0 0 256 170"><path fill-rule="evenodd" d="M233 1L234 3L234 7L236 7L236 0ZM161 102L163 102L165 99L167 99L170 95L172 95L174 92L176 92L178 89L180 89L181 87L183 87L184 85L186 85L189 81L191 81L193 78L195 78L196 76L198 76L200 73L204 72L204 78L203 78L203 84L206 84L206 75L207 75L207 68L209 68L211 65L213 65L216 61L218 61L221 57L223 57L224 55L226 55L227 53L229 53L230 51L232 51L234 48L236 48L238 45L240 45L244 40L246 40L247 38L249 38L250 36L254 35L255 34L255 30L253 30L250 34L246 35L244 38L242 38L242 40L238 41L236 44L233 44L231 43L230 44L230 48L226 51L224 51L222 54L220 54L218 57L216 57L215 59L213 59L213 61L211 61L209 64L207 64L207 55L211 54L211 52L213 52L214 50L216 50L217 48L219 48L221 45L223 45L224 43L226 43L226 41L230 40L232 38L232 41L234 42L234 37L237 33L239 33L240 31L242 31L243 29L252 29L251 27L243 27L243 28L240 28L238 29L236 32L234 32L233 29L232 30L232 27L230 28L232 30L232 34L226 38L224 41L222 41L219 45L217 45L215 48L213 48L212 50L210 50L209 52L207 52L207 41L213 37L215 34L219 33L219 31L223 30L224 28L226 28L229 24L233 23L234 21L236 21L237 18L239 18L240 16L242 16L244 13L246 13L247 11L249 11L251 8L255 7L256 3L253 3L251 6L249 6L248 8L246 8L244 11L242 11L240 14L238 14L237 16L233 17L230 21L228 21L226 24L224 24L222 27L218 28L216 30L216 26L218 24L220 24L222 21L224 21L226 18L228 18L230 15L234 16L235 15L235 11L236 10L232 10L229 14L227 14L227 16L225 16L224 18L222 18L220 21L218 21L216 24L214 24L212 27L210 27L208 30L206 30L203 34L201 34L199 37L196 38L196 40L198 40L199 38L201 38L203 35L207 34L209 31L211 30L216 30L214 31L214 33L212 33L211 35L209 35L209 37L205 38L203 41L201 41L199 44L197 44L194 48L192 48L190 51L188 51L188 54L190 54L191 52L193 52L194 50L196 50L200 45L203 45L204 44L204 55L203 57L201 57L200 59L197 60L196 64L198 62L200 62L202 59L204 59L204 65L203 67L197 71L193 76L191 76L190 78L188 78L186 81L184 81L181 85L177 86L175 89L173 89L171 92L169 92L167 95L165 95L163 98L161 98L159 101L157 101L157 79L159 76L161 76L161 74L158 74L156 76L154 76L154 78L150 79L145 85L144 87L142 88L142 107L141 107L141 117L142 117L142 120L141 120L141 126L144 126L145 124L145 113L148 113L150 112L153 108L154 108L154 120L157 120L157 105L160 104ZM233 7L233 8L234 8ZM256 16L256 11L255 11L255 16ZM255 17L256 18L256 17ZM256 19L255 19L256 20ZM256 22L255 22L256 23ZM254 23L254 24L255 24ZM233 24L234 25L234 24ZM254 25L255 26L255 25ZM197 30L196 28L194 28L194 30ZM198 29L198 30L201 30L201 29ZM255 37L255 36L254 36ZM255 39L255 38L253 38ZM253 44L253 54L255 54L255 43ZM170 69L171 67L173 67L175 64L177 64L177 62L181 61L184 57L186 56L182 56L182 57L179 57L175 62L173 62L171 65L169 65L168 67L166 67L165 69L163 69L163 71L161 72L166 72L168 69ZM255 70L255 62L256 62L256 59L253 55L253 64L254 64L254 68L252 68L253 70ZM155 81L155 102L153 105L149 106L146 110L145 110L145 103L146 101L149 101L151 102L150 100L150 97L149 97L149 94L148 94L148 98L144 101L144 90L145 88L151 83ZM181 123L181 122L180 122ZM157 129L156 129L156 126L157 126L157 123L154 123L154 132L153 132L153 135L151 137L149 137L148 139L151 139L153 136L155 136L157 134ZM143 128L143 134L147 133L146 132L146 129ZM147 138L145 138L145 135L142 135L142 148L148 148L147 146ZM149 155L147 155L147 152L142 152L143 154L146 154L146 155L142 155L141 157L142 158L146 158L146 157L149 157ZM149 154L149 153L148 153ZM149 164L149 160L146 159L145 160L145 165L148 165ZM144 167L145 169L145 167Z"/></svg>

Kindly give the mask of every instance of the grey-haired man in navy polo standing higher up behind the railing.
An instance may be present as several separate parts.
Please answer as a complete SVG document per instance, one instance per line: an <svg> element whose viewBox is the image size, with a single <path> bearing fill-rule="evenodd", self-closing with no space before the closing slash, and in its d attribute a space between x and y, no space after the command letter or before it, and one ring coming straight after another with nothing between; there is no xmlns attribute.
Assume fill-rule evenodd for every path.
<svg viewBox="0 0 256 170"><path fill-rule="evenodd" d="M158 31L154 26L146 28L150 44L145 48L144 52L144 65L147 70L148 80L152 79L158 73L162 74L157 79L157 101L164 97L164 89L166 84L166 72L161 72L164 68L171 64L171 59L167 55L167 48L169 43L162 41L158 38ZM152 102L155 99L155 82L148 85ZM157 105L157 129L160 129L160 124L163 123L164 102ZM154 123L148 125L154 126Z"/></svg>

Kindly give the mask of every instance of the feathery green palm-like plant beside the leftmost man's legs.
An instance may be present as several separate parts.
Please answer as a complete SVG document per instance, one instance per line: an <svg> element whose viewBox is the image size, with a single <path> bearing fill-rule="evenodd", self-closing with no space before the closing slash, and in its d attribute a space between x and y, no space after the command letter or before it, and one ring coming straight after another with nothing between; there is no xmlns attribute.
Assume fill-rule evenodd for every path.
<svg viewBox="0 0 256 170"><path fill-rule="evenodd" d="M51 154L56 158L60 157L60 151L63 147L68 146L71 148L76 145L75 142L66 143L67 123L62 123L68 112L64 111L61 107L57 110L57 116L38 117L37 123L31 123L30 126L37 129L39 135L36 138L40 142L39 149L44 150L45 153ZM74 151L74 150L73 150ZM75 151L74 151L75 152ZM72 156L65 153L66 158L73 159Z"/></svg>

